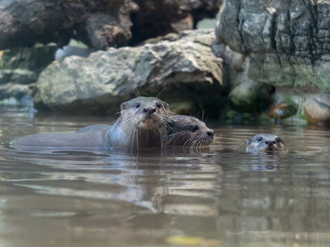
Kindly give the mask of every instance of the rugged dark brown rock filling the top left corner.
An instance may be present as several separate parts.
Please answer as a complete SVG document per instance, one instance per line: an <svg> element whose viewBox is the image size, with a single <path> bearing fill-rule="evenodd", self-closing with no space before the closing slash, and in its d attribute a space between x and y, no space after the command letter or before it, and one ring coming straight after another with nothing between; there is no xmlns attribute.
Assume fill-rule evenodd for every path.
<svg viewBox="0 0 330 247"><path fill-rule="evenodd" d="M1 1L0 49L35 42L65 45L73 37L98 49L125 45L135 11L131 0Z"/></svg>

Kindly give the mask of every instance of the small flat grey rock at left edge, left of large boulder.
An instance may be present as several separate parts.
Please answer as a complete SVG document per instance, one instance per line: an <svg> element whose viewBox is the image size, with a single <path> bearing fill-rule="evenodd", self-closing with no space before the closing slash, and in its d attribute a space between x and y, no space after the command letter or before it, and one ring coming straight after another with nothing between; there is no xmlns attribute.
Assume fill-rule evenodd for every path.
<svg viewBox="0 0 330 247"><path fill-rule="evenodd" d="M36 82L36 73L23 69L0 69L0 84L31 84Z"/></svg>

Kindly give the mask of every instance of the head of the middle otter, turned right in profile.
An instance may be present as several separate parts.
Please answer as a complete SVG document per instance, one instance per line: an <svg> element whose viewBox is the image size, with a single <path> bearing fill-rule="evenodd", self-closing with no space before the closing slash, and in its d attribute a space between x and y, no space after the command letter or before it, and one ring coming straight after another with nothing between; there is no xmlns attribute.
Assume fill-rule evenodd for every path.
<svg viewBox="0 0 330 247"><path fill-rule="evenodd" d="M214 139L214 131L196 117L172 115L169 124L170 130L166 135L167 145L197 148L201 145L209 145Z"/></svg>

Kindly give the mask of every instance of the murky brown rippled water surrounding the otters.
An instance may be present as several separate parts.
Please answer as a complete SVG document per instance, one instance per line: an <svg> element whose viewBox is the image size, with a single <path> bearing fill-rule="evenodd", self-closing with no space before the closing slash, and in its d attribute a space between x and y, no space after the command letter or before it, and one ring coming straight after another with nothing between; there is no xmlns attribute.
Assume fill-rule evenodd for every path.
<svg viewBox="0 0 330 247"><path fill-rule="evenodd" d="M25 134L109 119L0 117L0 246L330 244L327 128L284 126L289 154L243 152L259 126L218 126L197 152L132 154L14 150Z"/></svg>

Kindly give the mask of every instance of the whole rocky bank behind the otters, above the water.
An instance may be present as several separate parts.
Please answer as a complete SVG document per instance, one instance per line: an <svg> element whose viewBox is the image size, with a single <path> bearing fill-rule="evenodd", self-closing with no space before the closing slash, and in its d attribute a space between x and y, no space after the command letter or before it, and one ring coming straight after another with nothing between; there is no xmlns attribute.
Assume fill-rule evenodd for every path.
<svg viewBox="0 0 330 247"><path fill-rule="evenodd" d="M49 8L33 1L40 12L26 25L10 21L21 13L15 2L0 8L0 102L33 97L39 112L107 115L137 92L162 91L177 113L330 121L327 1L49 1ZM80 12L65 19L72 10ZM194 29L218 10L215 30ZM42 15L36 25L45 12L50 19ZM56 15L63 21L50 25ZM83 41L86 53L63 49L54 60L70 38Z"/></svg>

